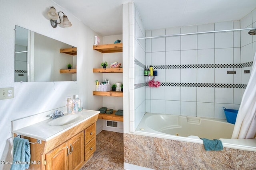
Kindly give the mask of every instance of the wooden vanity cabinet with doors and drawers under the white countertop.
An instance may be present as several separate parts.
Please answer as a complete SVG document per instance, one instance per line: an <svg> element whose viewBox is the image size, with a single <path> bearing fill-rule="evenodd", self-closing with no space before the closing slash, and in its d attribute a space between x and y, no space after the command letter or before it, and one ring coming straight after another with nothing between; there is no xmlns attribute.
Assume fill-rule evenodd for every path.
<svg viewBox="0 0 256 170"><path fill-rule="evenodd" d="M98 114L57 135L49 141L30 145L30 170L80 170L96 150L96 121ZM34 138L24 137L29 141Z"/></svg>

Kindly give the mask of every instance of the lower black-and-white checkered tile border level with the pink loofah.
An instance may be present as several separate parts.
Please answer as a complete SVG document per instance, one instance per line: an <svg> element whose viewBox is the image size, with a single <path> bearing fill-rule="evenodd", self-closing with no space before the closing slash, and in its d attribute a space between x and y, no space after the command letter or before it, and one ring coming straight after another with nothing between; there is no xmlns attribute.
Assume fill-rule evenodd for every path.
<svg viewBox="0 0 256 170"><path fill-rule="evenodd" d="M148 86L148 83L146 83ZM215 88L246 88L247 84L218 84L218 83L161 83L160 86L179 87L215 87Z"/></svg>

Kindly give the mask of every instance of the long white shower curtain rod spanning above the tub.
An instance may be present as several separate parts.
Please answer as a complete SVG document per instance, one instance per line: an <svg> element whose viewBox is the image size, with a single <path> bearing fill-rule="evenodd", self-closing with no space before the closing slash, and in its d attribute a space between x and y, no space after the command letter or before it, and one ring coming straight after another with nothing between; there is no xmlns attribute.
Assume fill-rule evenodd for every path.
<svg viewBox="0 0 256 170"><path fill-rule="evenodd" d="M242 28L242 29L228 29L228 30L220 30L220 31L206 31L206 32L197 32L197 33L183 33L183 34L172 34L172 35L159 35L154 37L140 37L137 39L151 39L151 38L164 38L164 37L176 37L181 35L194 35L194 34L206 34L206 33L222 33L222 32L232 32L232 31L243 31L249 29L256 29L256 28Z"/></svg>

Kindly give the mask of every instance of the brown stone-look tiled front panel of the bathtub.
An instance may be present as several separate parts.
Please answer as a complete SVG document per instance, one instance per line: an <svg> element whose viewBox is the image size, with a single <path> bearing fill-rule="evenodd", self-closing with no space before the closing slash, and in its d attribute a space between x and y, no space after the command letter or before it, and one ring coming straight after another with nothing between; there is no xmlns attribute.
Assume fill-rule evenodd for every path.
<svg viewBox="0 0 256 170"><path fill-rule="evenodd" d="M206 151L203 144L124 133L124 168L131 164L157 170L256 168L256 152Z"/></svg>

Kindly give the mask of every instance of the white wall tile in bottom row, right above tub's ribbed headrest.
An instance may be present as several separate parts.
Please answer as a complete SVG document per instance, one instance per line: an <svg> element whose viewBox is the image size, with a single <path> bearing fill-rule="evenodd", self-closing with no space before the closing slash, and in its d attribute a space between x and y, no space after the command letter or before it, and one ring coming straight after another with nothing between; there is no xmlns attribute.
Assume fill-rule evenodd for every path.
<svg viewBox="0 0 256 170"><path fill-rule="evenodd" d="M196 102L180 102L180 115L196 116Z"/></svg>

